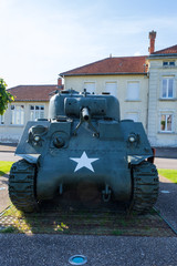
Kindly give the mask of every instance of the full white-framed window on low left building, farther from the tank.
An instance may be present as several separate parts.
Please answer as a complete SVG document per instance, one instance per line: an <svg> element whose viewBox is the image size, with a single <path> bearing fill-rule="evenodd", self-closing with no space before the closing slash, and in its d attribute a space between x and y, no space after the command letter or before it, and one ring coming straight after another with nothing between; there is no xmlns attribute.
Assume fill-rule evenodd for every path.
<svg viewBox="0 0 177 266"><path fill-rule="evenodd" d="M11 124L24 124L24 105L11 105Z"/></svg>

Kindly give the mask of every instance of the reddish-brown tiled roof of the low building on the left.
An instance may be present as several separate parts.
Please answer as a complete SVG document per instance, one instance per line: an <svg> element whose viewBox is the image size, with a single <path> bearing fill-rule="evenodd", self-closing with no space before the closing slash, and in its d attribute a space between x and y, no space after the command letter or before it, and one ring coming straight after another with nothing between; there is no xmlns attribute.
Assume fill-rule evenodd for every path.
<svg viewBox="0 0 177 266"><path fill-rule="evenodd" d="M15 102L46 102L50 93L58 90L58 85L18 85L8 89Z"/></svg>

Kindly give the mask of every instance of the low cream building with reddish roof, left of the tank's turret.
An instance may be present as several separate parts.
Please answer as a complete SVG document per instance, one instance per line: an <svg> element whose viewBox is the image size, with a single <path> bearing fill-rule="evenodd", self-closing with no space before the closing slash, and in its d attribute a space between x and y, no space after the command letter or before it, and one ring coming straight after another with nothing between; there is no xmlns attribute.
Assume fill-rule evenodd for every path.
<svg viewBox="0 0 177 266"><path fill-rule="evenodd" d="M14 102L0 115L0 142L18 143L28 121L48 119L50 95L61 89L61 79L55 85L19 85L9 89Z"/></svg>

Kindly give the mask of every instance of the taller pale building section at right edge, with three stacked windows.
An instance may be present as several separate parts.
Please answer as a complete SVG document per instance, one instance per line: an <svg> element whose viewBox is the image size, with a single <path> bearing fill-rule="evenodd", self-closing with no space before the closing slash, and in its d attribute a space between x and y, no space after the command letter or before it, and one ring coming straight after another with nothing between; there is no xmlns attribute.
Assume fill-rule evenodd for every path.
<svg viewBox="0 0 177 266"><path fill-rule="evenodd" d="M148 139L177 146L177 45L154 52L149 61Z"/></svg>

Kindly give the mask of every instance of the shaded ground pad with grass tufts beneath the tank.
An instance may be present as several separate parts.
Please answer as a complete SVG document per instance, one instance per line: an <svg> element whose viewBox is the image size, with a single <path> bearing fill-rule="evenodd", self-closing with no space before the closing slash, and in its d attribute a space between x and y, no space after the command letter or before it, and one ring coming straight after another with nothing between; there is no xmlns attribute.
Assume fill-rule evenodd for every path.
<svg viewBox="0 0 177 266"><path fill-rule="evenodd" d="M0 217L1 233L175 236L154 209L144 215L129 214L125 204L101 200L79 201L69 193L43 202L39 212L30 214L19 212L12 205Z"/></svg>

